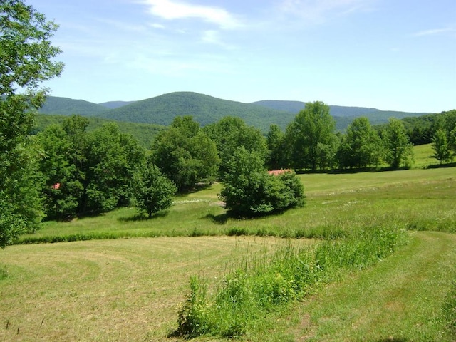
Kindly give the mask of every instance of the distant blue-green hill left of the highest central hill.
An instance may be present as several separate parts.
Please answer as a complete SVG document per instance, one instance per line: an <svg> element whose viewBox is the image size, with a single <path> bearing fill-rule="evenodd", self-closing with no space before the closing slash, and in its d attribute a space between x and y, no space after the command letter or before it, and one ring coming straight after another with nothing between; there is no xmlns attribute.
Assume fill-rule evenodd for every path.
<svg viewBox="0 0 456 342"><path fill-rule="evenodd" d="M83 115L95 116L103 113L108 108L103 105L97 105L85 100L73 100L71 98L58 98L49 96L43 107L39 110L41 114L56 114L56 115Z"/></svg>

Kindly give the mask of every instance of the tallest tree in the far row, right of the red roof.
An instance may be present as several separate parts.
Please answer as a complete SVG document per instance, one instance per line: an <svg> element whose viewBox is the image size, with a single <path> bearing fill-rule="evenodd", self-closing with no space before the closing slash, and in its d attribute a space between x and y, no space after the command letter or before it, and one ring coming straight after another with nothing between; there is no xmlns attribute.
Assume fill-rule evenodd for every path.
<svg viewBox="0 0 456 342"><path fill-rule="evenodd" d="M335 155L337 146L335 128L328 105L320 101L306 103L306 108L286 128L285 139L291 143L291 165L312 171L331 165L333 162L328 158Z"/></svg>

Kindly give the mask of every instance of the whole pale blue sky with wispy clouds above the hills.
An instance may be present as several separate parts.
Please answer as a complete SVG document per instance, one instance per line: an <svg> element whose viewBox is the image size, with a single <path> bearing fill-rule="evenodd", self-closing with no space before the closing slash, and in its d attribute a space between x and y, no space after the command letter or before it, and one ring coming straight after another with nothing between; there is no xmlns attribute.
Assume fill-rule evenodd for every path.
<svg viewBox="0 0 456 342"><path fill-rule="evenodd" d="M59 25L52 96L456 109L455 0L26 0Z"/></svg>

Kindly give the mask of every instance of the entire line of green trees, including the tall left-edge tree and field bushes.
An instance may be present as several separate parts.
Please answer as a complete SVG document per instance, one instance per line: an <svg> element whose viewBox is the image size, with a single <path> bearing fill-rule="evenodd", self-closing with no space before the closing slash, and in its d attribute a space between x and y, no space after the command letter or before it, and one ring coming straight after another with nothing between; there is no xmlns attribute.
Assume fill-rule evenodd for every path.
<svg viewBox="0 0 456 342"><path fill-rule="evenodd" d="M241 118L227 116L201 127L177 117L145 148L117 123L87 130L73 115L31 135L46 99L42 81L59 76L61 50L49 39L57 26L21 0L0 3L0 247L33 232L43 219L71 219L135 205L148 217L170 207L176 192L215 180L220 199L241 217L304 205L294 170L410 167L412 145L401 121L381 130L358 118L335 133L328 105L308 103L282 132L265 137ZM25 90L19 93L18 88ZM442 116L432 138L435 157L456 152L456 115ZM270 175L268 169L286 169Z"/></svg>

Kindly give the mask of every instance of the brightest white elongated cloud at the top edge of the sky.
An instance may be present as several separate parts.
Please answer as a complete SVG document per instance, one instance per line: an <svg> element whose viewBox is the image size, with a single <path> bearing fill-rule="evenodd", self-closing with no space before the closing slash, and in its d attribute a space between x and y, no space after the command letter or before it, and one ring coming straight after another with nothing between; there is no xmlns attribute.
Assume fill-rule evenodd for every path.
<svg viewBox="0 0 456 342"><path fill-rule="evenodd" d="M150 6L150 14L159 16L162 19L196 18L217 24L217 26L225 29L239 28L242 26L241 22L230 14L229 11L215 6L187 4L174 0L144 0L142 3Z"/></svg>

